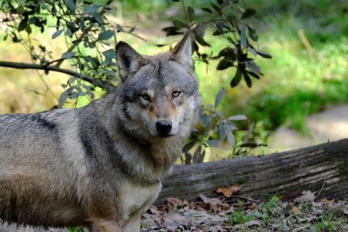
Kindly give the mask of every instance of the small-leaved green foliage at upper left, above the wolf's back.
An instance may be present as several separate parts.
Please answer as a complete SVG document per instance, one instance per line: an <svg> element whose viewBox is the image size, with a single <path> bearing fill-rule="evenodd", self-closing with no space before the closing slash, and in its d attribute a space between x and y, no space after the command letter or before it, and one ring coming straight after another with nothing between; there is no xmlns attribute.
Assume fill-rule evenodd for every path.
<svg viewBox="0 0 348 232"><path fill-rule="evenodd" d="M92 4L90 1L72 0L39 0L39 1L11 1L1 2L4 14L3 23L6 25L4 39L11 38L13 43L22 43L31 54L33 63L60 68L62 62L68 60L77 76L70 78L65 85L65 92L60 95L58 107L68 99L79 96L94 98L95 87L112 90L116 80L115 51L110 40L116 41L115 31L123 31L123 27L113 24L107 15L111 14L111 6L106 4ZM38 28L44 33L48 27L55 28L52 35L55 39L64 37L66 51L59 58L53 58L52 52L45 46L33 44L32 33ZM94 55L85 55L91 50ZM46 70L45 74L48 75ZM80 76L91 78L90 83L82 82Z"/></svg>

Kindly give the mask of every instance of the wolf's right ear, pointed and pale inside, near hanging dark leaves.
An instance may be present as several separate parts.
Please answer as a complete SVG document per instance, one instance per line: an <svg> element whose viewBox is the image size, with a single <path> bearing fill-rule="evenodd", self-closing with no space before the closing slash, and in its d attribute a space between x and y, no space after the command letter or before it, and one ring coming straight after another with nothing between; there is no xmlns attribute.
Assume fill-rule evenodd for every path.
<svg viewBox="0 0 348 232"><path fill-rule="evenodd" d="M191 31L188 30L185 33L184 38L172 49L170 53L173 53L172 60L184 65L187 68L193 68L192 56L192 42L191 42Z"/></svg>

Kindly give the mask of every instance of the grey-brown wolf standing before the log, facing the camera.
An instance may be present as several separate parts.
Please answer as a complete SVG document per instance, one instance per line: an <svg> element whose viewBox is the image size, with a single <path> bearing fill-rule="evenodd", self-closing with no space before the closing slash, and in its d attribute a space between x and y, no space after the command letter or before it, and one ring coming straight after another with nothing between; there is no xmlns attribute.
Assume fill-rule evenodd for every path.
<svg viewBox="0 0 348 232"><path fill-rule="evenodd" d="M116 44L120 83L78 109L0 116L0 218L139 231L201 106L190 32L170 51Z"/></svg>

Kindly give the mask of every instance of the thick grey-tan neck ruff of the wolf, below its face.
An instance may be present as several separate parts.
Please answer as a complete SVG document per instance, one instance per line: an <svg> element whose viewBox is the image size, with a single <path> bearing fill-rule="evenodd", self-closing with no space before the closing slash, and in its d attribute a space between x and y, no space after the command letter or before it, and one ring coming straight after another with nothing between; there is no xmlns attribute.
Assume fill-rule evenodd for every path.
<svg viewBox="0 0 348 232"><path fill-rule="evenodd" d="M178 159L189 132L184 130L173 137L147 137L126 127L125 118L114 112L117 99L113 94L104 97L99 120L112 139L114 154L111 159L124 164L126 176L139 184L155 184L170 172ZM116 103L115 103L116 102ZM119 109L119 107L116 107ZM112 113L110 113L112 112Z"/></svg>

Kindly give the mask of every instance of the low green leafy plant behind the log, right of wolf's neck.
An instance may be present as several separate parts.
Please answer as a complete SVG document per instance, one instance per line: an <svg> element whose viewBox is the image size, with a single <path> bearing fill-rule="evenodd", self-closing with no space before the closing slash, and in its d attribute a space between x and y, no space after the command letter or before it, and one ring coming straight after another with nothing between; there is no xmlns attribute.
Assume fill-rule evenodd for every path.
<svg viewBox="0 0 348 232"><path fill-rule="evenodd" d="M217 109L224 94L220 89L215 97L215 104L202 107L200 125L194 130L183 148L182 162L185 164L203 162L207 149L220 147L231 149L229 158L249 154L250 149L266 146L270 132L266 131L262 122L251 124L249 130L237 130L236 121L246 120L245 115L225 117Z"/></svg>

